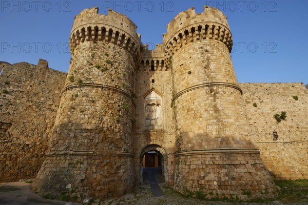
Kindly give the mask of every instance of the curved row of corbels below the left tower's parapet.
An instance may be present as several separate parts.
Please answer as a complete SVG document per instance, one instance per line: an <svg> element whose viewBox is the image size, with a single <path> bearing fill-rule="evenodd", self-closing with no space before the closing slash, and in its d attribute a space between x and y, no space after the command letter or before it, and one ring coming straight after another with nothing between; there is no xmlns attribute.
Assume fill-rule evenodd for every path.
<svg viewBox="0 0 308 205"><path fill-rule="evenodd" d="M126 49L137 63L140 63L140 39L135 39L125 31L111 25L98 26L99 24L84 24L71 32L69 48L71 52L83 42L98 40L112 43Z"/></svg>

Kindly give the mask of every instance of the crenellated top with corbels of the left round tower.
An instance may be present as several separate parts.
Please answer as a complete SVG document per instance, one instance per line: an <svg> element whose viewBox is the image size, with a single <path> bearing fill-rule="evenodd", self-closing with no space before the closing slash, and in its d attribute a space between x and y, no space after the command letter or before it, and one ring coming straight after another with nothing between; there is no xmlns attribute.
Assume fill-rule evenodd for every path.
<svg viewBox="0 0 308 205"><path fill-rule="evenodd" d="M85 9L75 16L70 34L70 50L86 41L105 41L127 49L134 60L140 61L141 36L137 26L126 15L111 9L108 14L99 14L99 8Z"/></svg>

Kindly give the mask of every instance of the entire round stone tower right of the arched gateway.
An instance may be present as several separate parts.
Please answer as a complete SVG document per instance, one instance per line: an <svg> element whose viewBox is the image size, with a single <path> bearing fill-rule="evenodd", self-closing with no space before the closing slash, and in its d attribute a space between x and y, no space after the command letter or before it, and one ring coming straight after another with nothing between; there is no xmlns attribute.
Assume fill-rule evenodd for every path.
<svg viewBox="0 0 308 205"><path fill-rule="evenodd" d="M233 68L227 17L205 6L179 13L164 34L176 125L174 188L186 195L249 200L277 195L249 139ZM249 130L248 130L249 131Z"/></svg>

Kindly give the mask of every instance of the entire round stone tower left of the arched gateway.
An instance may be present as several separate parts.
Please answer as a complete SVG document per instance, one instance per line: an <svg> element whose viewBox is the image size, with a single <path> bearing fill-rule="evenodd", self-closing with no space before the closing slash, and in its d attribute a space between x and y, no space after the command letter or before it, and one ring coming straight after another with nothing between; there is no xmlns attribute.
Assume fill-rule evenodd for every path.
<svg viewBox="0 0 308 205"><path fill-rule="evenodd" d="M134 187L136 30L127 16L98 14L98 7L75 17L71 65L34 191L81 199L121 196Z"/></svg>

